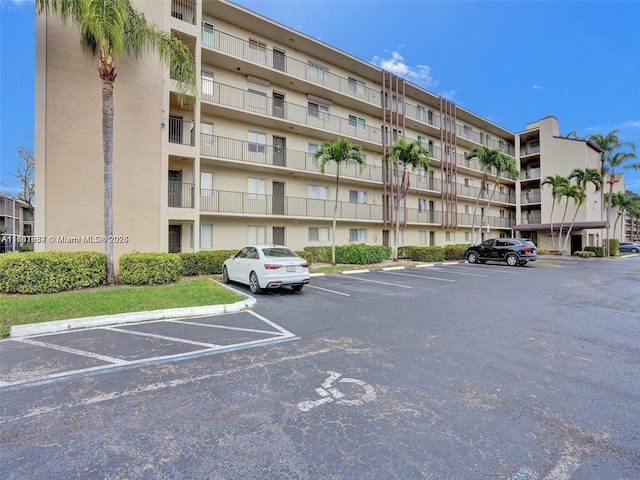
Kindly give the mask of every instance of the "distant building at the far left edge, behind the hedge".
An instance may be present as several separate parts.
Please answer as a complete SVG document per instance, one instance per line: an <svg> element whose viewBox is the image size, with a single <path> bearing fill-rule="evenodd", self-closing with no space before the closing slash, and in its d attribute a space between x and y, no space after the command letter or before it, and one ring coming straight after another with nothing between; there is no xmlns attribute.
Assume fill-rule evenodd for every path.
<svg viewBox="0 0 640 480"><path fill-rule="evenodd" d="M0 192L0 253L33 250L33 207Z"/></svg>

